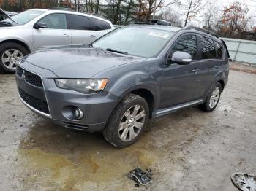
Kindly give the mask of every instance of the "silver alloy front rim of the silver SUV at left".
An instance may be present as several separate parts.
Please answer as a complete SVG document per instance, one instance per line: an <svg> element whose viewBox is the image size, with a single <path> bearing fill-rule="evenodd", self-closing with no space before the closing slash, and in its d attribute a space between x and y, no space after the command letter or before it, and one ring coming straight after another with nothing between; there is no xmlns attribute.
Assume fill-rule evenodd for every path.
<svg viewBox="0 0 256 191"><path fill-rule="evenodd" d="M15 71L17 63L23 58L23 53L17 49L5 50L1 55L1 62L7 69Z"/></svg>

